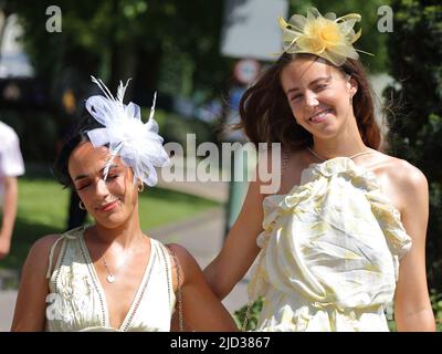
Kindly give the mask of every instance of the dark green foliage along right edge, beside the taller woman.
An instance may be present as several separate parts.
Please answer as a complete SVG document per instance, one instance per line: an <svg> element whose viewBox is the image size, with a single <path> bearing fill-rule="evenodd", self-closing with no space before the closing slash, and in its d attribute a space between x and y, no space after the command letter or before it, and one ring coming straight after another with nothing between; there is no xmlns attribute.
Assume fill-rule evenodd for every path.
<svg viewBox="0 0 442 354"><path fill-rule="evenodd" d="M397 85L386 96L400 107L389 114L391 152L429 180L427 269L430 288L442 292L442 6L436 0L394 0L392 9L389 72Z"/></svg>

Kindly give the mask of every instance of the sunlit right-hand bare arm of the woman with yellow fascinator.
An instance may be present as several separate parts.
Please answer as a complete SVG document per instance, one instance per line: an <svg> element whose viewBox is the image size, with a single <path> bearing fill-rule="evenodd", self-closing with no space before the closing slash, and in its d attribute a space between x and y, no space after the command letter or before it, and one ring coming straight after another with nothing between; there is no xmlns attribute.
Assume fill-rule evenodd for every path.
<svg viewBox="0 0 442 354"><path fill-rule="evenodd" d="M435 331L425 271L425 235L429 195L425 176L407 164L400 178L402 223L412 239L410 251L401 259L394 296L398 331Z"/></svg>

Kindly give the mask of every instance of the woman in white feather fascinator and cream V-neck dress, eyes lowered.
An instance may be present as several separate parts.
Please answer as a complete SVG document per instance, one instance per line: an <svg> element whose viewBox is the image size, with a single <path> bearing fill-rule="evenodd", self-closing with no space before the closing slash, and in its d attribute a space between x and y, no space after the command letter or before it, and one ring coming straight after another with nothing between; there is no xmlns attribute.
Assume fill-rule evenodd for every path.
<svg viewBox="0 0 442 354"><path fill-rule="evenodd" d="M87 98L87 114L67 138L54 170L73 186L95 223L49 235L22 269L12 331L235 331L193 257L162 244L139 225L138 192L169 163L154 119L114 97ZM177 311L175 311L177 310Z"/></svg>

